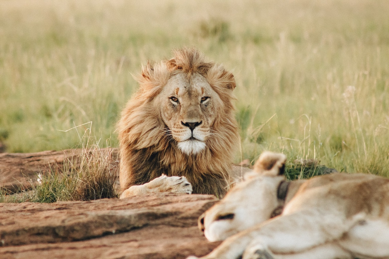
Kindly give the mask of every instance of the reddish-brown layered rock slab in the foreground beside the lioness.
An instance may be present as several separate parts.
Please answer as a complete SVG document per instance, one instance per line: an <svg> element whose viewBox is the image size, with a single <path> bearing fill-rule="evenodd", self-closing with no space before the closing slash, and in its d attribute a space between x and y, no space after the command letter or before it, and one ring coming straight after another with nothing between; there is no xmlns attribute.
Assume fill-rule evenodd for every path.
<svg viewBox="0 0 389 259"><path fill-rule="evenodd" d="M185 258L208 254L197 218L212 195L0 203L0 258Z"/></svg>

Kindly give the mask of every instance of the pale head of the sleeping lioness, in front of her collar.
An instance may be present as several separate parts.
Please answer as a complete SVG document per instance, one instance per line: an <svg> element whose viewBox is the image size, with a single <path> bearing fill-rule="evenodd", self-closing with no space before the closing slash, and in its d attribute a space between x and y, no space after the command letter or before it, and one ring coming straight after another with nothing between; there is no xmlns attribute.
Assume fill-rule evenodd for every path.
<svg viewBox="0 0 389 259"><path fill-rule="evenodd" d="M254 171L200 216L198 225L205 237L211 242L221 241L270 219L280 205L277 189L285 180L285 162L283 154L262 153Z"/></svg>

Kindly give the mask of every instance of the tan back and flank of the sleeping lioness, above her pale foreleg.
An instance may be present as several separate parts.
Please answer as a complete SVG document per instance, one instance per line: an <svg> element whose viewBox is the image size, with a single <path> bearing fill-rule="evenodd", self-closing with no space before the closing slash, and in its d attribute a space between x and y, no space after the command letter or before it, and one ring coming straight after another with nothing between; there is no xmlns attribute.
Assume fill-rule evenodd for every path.
<svg viewBox="0 0 389 259"><path fill-rule="evenodd" d="M315 204L321 203L329 209L331 206L341 208L346 217L359 212L378 216L389 205L389 179L372 174L334 173L317 176L303 183L295 198L306 203L316 200ZM290 206L293 206L293 202Z"/></svg>

